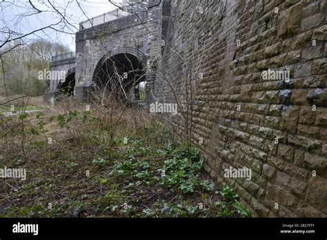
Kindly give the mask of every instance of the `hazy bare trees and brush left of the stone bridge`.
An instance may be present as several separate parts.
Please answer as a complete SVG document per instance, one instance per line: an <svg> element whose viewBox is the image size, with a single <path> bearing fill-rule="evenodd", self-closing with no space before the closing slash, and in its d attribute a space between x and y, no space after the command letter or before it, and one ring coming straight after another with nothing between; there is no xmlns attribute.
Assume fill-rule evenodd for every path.
<svg viewBox="0 0 327 240"><path fill-rule="evenodd" d="M51 57L69 52L69 48L44 39L28 45L20 41L12 43L14 46L0 51L0 94L7 98L14 94L43 94L50 79L40 79L39 71L50 70Z"/></svg>

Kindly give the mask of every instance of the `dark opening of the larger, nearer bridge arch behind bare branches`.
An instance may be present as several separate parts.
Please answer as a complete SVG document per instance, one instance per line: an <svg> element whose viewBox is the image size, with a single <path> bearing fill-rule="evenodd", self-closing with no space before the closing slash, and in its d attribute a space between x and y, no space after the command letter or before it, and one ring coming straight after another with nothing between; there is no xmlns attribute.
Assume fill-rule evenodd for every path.
<svg viewBox="0 0 327 240"><path fill-rule="evenodd" d="M142 63L133 54L120 53L103 57L97 64L92 78L95 91L116 97L122 101L134 102L144 98L139 83L144 85L145 72Z"/></svg>

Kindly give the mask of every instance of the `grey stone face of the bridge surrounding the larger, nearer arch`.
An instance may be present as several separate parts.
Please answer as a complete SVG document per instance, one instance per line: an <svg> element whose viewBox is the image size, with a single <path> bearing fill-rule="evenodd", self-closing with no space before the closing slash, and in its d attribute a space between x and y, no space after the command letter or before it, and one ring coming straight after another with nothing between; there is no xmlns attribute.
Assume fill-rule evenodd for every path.
<svg viewBox="0 0 327 240"><path fill-rule="evenodd" d="M79 99L89 99L88 88L92 86L92 76L99 61L126 53L137 57L144 68L147 60L155 66L161 52L161 6L150 3L148 12L130 14L77 32L75 95ZM154 79L154 75L148 76L147 81L151 78Z"/></svg>

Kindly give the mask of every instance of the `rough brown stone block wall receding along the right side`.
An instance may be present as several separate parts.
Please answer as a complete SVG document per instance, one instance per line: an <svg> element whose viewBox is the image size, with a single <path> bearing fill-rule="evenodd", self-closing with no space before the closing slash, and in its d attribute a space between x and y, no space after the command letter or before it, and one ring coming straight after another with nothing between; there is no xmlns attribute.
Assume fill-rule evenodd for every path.
<svg viewBox="0 0 327 240"><path fill-rule="evenodd" d="M158 74L180 97L184 79L199 83L192 141L254 216L327 215L326 12L326 0L171 1ZM176 100L159 77L155 94ZM230 166L251 179L224 177Z"/></svg>

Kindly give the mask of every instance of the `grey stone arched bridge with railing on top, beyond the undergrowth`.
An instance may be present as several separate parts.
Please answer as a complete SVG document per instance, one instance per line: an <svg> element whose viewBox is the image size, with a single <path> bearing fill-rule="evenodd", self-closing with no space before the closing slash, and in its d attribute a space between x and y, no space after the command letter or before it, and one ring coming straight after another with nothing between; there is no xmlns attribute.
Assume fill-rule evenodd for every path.
<svg viewBox="0 0 327 240"><path fill-rule="evenodd" d="M169 8L170 1L150 0L147 12L126 15L117 10L81 22L76 33L76 56L52 57L52 71L69 72L61 81L52 79L51 92L73 86L70 93L87 101L90 87L106 86L115 71L124 76L123 87L131 99L139 99L135 89L141 82L146 81L146 91L150 93L161 57L161 39L167 32L168 19L163 14L170 12Z"/></svg>

